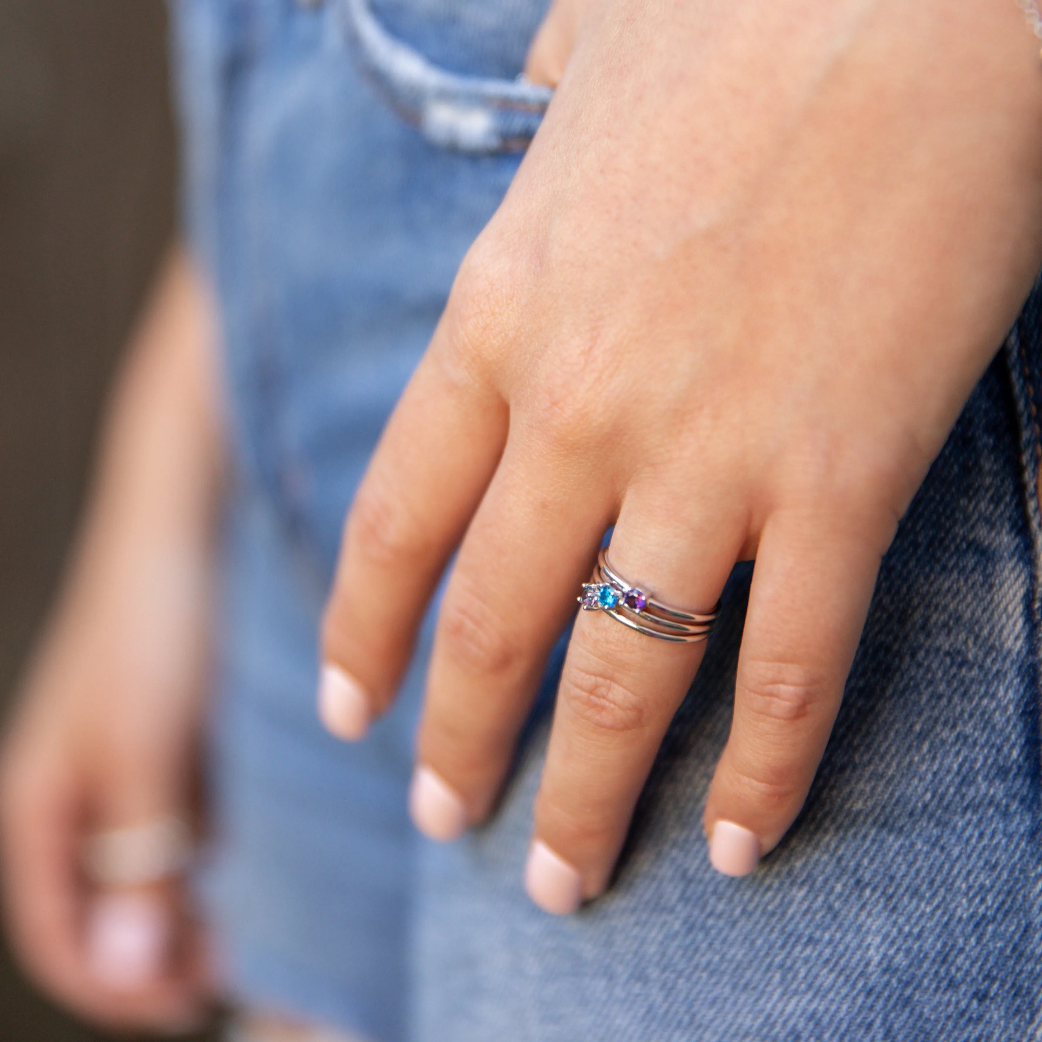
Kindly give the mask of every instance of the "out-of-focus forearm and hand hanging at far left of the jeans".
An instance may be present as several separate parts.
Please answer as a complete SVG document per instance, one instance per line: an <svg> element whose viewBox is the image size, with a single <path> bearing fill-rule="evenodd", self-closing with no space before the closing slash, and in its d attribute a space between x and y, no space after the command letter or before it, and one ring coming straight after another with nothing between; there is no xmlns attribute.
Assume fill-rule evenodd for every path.
<svg viewBox="0 0 1042 1042"><path fill-rule="evenodd" d="M216 488L203 323L178 255L122 381L75 567L2 761L16 950L54 997L119 1028L187 1028L209 1000L183 880L84 871L93 837L193 818Z"/></svg>

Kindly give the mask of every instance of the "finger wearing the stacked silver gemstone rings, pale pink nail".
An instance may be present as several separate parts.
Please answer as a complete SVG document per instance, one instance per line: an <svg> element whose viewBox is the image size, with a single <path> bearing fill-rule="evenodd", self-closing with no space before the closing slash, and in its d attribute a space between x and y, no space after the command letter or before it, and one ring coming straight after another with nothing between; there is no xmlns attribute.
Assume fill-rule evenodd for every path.
<svg viewBox="0 0 1042 1042"><path fill-rule="evenodd" d="M667 605L708 613L741 549L739 518L696 504L687 523L653 501L624 502L612 539L614 570ZM675 525L675 526L674 526ZM525 870L529 896L568 914L603 892L666 729L701 662L704 643L670 643L604 612L576 620Z"/></svg>

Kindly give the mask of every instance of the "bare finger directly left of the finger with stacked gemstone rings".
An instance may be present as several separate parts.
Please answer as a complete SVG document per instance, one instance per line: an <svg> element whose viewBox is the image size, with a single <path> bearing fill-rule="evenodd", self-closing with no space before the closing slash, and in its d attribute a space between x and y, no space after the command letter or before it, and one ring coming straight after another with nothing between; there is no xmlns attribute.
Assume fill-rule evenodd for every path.
<svg viewBox="0 0 1042 1042"><path fill-rule="evenodd" d="M494 804L613 511L602 482L507 443L435 636L410 795L431 839L454 839Z"/></svg>

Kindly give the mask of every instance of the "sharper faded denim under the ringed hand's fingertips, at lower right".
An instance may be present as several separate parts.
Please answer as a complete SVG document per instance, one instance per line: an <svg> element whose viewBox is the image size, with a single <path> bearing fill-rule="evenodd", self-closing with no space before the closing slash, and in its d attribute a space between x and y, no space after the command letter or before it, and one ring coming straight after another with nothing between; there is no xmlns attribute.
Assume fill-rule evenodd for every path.
<svg viewBox="0 0 1042 1042"><path fill-rule="evenodd" d="M1038 384L1021 349L1038 357L1034 301L901 522L821 770L777 849L733 879L701 833L730 723L741 566L605 897L555 919L518 886L548 721L495 821L424 850L416 1039L1042 1037Z"/></svg>

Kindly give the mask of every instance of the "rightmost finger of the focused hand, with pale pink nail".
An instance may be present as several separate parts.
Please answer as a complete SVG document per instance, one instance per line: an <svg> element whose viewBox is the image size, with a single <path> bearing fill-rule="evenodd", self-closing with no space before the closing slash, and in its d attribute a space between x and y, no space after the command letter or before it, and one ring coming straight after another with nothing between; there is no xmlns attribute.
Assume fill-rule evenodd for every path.
<svg viewBox="0 0 1042 1042"><path fill-rule="evenodd" d="M756 554L735 714L705 805L710 860L745 875L799 814L843 697L879 567L849 524L776 516Z"/></svg>

